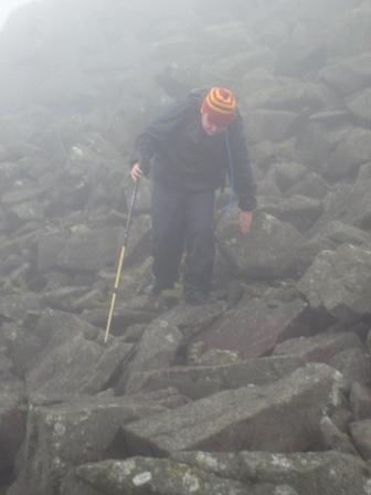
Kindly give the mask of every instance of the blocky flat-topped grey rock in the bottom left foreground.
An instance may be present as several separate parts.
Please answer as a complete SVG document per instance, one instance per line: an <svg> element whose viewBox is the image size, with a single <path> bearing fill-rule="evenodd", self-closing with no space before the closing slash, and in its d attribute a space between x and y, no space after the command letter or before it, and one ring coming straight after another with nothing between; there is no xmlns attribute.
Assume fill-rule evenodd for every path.
<svg viewBox="0 0 371 495"><path fill-rule="evenodd" d="M31 408L21 470L8 493L50 495L59 491L74 466L105 457L120 425L163 410L144 398L109 396Z"/></svg>

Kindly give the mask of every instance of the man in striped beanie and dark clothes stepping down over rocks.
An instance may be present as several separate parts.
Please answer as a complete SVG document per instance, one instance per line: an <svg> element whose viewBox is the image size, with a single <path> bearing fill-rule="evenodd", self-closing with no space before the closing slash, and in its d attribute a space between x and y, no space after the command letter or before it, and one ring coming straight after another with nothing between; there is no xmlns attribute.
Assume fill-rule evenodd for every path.
<svg viewBox="0 0 371 495"><path fill-rule="evenodd" d="M214 262L214 192L225 175L246 233L256 207L241 115L230 89L193 91L137 137L131 177L152 181L152 294L171 288L186 246L186 302L208 302Z"/></svg>

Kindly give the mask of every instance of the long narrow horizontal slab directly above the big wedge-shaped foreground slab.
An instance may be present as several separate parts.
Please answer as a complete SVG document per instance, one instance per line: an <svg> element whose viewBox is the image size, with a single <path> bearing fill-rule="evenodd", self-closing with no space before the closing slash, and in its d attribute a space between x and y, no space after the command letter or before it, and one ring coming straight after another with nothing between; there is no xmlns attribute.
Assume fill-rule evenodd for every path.
<svg viewBox="0 0 371 495"><path fill-rule="evenodd" d="M132 373L126 390L128 393L149 392L171 383L183 396L198 400L223 390L272 383L290 375L303 364L296 357L272 357L223 366L171 367Z"/></svg>

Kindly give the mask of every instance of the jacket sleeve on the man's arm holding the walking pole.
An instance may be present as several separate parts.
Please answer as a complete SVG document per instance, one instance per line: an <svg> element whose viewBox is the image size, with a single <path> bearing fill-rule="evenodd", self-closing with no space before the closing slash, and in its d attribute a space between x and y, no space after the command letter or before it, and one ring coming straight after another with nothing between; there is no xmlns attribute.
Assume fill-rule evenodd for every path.
<svg viewBox="0 0 371 495"><path fill-rule="evenodd" d="M151 159L157 150L167 146L188 107L187 98L174 102L148 124L135 140L131 166L138 160Z"/></svg>

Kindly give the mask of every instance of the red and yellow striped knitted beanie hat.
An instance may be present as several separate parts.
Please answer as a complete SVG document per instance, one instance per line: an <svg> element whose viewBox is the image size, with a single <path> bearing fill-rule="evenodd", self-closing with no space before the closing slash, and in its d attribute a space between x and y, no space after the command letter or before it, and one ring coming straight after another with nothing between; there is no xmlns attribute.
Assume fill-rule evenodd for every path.
<svg viewBox="0 0 371 495"><path fill-rule="evenodd" d="M209 119L215 126L224 127L235 118L236 101L233 93L225 87L213 87L206 94L201 114L208 114Z"/></svg>

